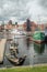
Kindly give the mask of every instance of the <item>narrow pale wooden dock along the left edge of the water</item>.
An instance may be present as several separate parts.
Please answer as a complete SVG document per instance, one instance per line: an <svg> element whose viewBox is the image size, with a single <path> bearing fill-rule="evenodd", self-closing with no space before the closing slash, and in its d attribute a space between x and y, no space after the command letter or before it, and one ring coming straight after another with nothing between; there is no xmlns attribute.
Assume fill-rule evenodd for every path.
<svg viewBox="0 0 47 72"><path fill-rule="evenodd" d="M0 40L0 63L3 63L5 42L7 42L7 39Z"/></svg>

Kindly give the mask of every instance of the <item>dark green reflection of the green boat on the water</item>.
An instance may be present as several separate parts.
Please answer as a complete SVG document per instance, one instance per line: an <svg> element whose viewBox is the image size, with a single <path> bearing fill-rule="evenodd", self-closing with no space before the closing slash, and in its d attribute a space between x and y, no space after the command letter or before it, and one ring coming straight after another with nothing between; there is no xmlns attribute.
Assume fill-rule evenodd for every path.
<svg viewBox="0 0 47 72"><path fill-rule="evenodd" d="M42 54L45 51L45 43L38 44L34 42L34 50L36 53Z"/></svg>

